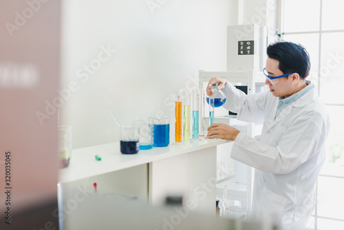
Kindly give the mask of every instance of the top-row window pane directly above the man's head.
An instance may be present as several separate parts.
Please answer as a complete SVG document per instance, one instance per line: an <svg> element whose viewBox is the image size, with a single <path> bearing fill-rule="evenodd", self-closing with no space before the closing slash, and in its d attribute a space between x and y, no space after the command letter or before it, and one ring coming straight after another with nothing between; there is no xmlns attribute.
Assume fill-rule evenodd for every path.
<svg viewBox="0 0 344 230"><path fill-rule="evenodd" d="M284 1L284 31L319 30L320 0Z"/></svg>

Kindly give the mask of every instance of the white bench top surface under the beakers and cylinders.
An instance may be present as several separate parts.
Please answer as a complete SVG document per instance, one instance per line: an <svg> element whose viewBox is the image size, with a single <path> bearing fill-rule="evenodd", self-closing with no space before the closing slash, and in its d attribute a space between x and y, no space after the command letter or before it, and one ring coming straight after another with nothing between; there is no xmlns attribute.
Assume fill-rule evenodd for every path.
<svg viewBox="0 0 344 230"><path fill-rule="evenodd" d="M172 158L228 142L230 141L223 139L204 139L193 140L190 143L170 143L168 147L153 147L149 150L140 150L138 154L133 155L121 154L119 142L73 149L69 166L59 170L59 182L73 182L107 174L111 171ZM96 155L100 156L102 160L96 160Z"/></svg>

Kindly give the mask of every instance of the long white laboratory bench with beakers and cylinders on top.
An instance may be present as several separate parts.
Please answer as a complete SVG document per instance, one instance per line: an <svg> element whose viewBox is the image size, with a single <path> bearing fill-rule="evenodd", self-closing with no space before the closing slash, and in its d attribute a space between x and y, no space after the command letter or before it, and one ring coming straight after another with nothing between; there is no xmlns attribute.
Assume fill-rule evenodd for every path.
<svg viewBox="0 0 344 230"><path fill-rule="evenodd" d="M215 215L217 149L230 143L191 140L132 155L121 154L119 142L73 149L69 166L59 170L63 203L97 194L160 207L166 196L182 196L186 207Z"/></svg>

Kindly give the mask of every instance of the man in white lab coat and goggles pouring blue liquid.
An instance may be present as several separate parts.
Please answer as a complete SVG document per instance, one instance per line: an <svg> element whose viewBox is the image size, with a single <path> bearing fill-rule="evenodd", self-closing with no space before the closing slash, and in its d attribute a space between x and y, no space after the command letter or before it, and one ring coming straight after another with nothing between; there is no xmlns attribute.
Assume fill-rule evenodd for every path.
<svg viewBox="0 0 344 230"><path fill-rule="evenodd" d="M256 169L252 218L303 229L314 209L330 120L314 85L305 80L310 58L303 46L283 41L269 45L267 53L269 91L247 96L223 78L211 79L206 89L213 95L210 85L217 82L226 109L241 121L263 121L261 139L224 123L211 125L207 138L234 140L230 156Z"/></svg>

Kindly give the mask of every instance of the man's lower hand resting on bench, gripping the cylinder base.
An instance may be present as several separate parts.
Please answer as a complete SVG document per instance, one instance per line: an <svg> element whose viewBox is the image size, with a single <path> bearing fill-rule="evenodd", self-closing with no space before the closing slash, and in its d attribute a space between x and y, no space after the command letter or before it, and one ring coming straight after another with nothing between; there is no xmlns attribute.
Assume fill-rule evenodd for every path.
<svg viewBox="0 0 344 230"><path fill-rule="evenodd" d="M208 135L206 138L221 138L226 140L235 140L239 134L239 130L226 125L224 123L214 123L208 127Z"/></svg>

